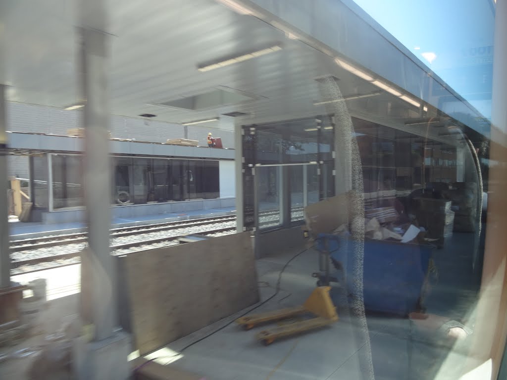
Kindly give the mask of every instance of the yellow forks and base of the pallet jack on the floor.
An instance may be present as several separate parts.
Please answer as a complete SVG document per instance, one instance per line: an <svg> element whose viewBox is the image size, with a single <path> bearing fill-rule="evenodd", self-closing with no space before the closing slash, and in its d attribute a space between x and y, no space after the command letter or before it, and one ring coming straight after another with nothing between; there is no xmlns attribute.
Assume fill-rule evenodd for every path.
<svg viewBox="0 0 507 380"><path fill-rule="evenodd" d="M236 319L236 323L245 330L249 330L261 323L279 321L281 319L294 317L299 314L311 313L316 317L300 322L262 330L257 333L257 339L264 345L270 345L275 339L299 334L304 331L313 330L319 327L330 325L338 321L338 314L329 296L329 286L319 286L313 290L305 303L294 308L273 310L271 312L253 314Z"/></svg>

